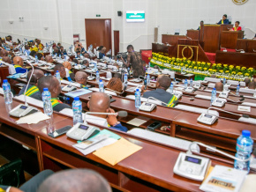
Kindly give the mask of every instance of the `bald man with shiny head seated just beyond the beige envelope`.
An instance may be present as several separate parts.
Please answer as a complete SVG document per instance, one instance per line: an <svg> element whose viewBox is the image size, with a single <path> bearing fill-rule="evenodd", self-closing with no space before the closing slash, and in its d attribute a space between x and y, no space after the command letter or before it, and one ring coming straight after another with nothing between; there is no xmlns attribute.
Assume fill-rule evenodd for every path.
<svg viewBox="0 0 256 192"><path fill-rule="evenodd" d="M110 98L104 92L94 92L87 103L87 107L90 112L100 112L100 113L115 113L115 111L110 106ZM112 129L117 129L121 131L127 131L127 128L122 126L120 122L117 121L117 116L114 114L94 114L94 116L100 117L102 119L107 119L109 127Z"/></svg>

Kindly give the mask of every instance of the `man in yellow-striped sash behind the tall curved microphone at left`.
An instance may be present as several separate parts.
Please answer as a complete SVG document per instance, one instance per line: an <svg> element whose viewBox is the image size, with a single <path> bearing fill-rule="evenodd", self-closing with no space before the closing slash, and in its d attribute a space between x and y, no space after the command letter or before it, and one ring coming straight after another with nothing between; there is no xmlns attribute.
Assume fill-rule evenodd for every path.
<svg viewBox="0 0 256 192"><path fill-rule="evenodd" d="M31 74L32 74L32 70L28 71L27 76L26 76L27 82L28 82ZM37 82L42 77L44 77L42 70L34 70L34 74L32 75L32 78L30 80L30 84L27 85L27 90L26 90L26 86L24 86L20 90L19 95L24 94L24 92L26 90L26 96L32 97L36 100L41 100L41 92L37 88Z"/></svg>

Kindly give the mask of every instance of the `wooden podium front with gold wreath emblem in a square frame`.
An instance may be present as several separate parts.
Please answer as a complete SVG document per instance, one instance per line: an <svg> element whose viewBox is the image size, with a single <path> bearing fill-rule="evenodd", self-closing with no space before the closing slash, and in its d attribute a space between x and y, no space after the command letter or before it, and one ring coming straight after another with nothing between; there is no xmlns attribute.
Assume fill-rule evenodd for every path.
<svg viewBox="0 0 256 192"><path fill-rule="evenodd" d="M177 43L177 58L187 58L195 62L209 63L209 59L198 40L181 39Z"/></svg>

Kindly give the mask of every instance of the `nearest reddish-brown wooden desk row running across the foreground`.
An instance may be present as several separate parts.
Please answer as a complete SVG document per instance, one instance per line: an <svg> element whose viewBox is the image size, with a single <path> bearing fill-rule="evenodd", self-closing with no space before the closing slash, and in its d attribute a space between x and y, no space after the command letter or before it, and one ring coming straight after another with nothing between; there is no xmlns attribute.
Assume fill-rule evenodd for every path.
<svg viewBox="0 0 256 192"><path fill-rule="evenodd" d="M17 105L19 101L13 100L12 107ZM32 125L16 124L18 119L9 116L3 96L0 96L0 106L0 121L2 122L0 134L35 151L41 170L59 171L81 167L94 169L109 181L111 187L119 191L199 191L199 181L188 180L173 173L177 156L181 151L177 148L154 144L110 129L133 144L143 147L142 150L122 160L116 166L110 166L92 153L87 156L82 155L72 147L76 141L65 135L55 139L48 136L49 129L60 129L68 124L72 125L72 118L54 113L52 121ZM5 124L11 127L6 128ZM213 166L232 166L230 160L214 157L211 159Z"/></svg>

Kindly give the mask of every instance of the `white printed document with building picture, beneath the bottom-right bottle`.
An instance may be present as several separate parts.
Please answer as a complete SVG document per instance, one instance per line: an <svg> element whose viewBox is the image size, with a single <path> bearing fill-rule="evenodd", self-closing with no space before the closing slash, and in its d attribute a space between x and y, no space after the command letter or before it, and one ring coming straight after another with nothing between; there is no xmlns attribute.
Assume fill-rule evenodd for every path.
<svg viewBox="0 0 256 192"><path fill-rule="evenodd" d="M228 166L215 166L207 179L200 185L200 189L209 192L238 192L247 172Z"/></svg>

